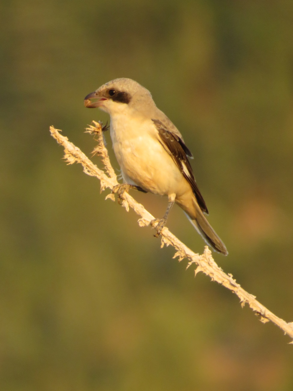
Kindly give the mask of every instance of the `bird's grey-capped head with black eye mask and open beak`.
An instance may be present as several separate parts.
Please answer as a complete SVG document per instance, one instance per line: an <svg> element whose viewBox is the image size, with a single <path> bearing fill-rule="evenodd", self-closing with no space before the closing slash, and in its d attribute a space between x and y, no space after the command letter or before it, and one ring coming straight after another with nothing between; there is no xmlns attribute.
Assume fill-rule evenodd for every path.
<svg viewBox="0 0 293 391"><path fill-rule="evenodd" d="M103 84L96 91L84 98L87 108L100 108L115 115L125 111L139 111L141 114L147 109L155 107L150 92L132 79L120 78Z"/></svg>

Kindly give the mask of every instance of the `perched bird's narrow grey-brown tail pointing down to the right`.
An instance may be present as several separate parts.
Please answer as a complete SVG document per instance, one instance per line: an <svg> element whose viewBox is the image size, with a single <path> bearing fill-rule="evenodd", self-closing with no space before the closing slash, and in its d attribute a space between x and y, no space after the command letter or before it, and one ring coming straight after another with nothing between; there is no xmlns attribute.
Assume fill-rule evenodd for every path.
<svg viewBox="0 0 293 391"><path fill-rule="evenodd" d="M193 219L186 213L189 221L198 231L198 233L202 235L207 244L210 244L213 249L215 249L219 253L222 253L223 255L228 255L228 251L225 244L218 237L211 224L207 221L204 216L204 213L202 213L202 210L200 209L196 201L194 201L194 204L196 209L196 217L195 219Z"/></svg>

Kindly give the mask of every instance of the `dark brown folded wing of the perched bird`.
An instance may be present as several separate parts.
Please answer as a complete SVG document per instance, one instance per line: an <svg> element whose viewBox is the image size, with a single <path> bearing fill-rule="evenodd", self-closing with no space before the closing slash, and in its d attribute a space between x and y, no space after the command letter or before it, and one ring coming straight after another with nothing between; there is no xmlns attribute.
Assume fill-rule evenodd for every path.
<svg viewBox="0 0 293 391"><path fill-rule="evenodd" d="M184 178L190 183L193 193L197 199L198 205L201 210L205 213L209 213L207 210L207 206L204 202L202 195L197 187L197 183L195 181L191 165L187 156L193 157L188 147L184 144L183 140L166 129L166 127L162 124L161 121L152 119L157 128L160 136L160 142L167 152L171 154L173 160L175 161L177 167L182 172ZM186 156L187 155L187 156Z"/></svg>

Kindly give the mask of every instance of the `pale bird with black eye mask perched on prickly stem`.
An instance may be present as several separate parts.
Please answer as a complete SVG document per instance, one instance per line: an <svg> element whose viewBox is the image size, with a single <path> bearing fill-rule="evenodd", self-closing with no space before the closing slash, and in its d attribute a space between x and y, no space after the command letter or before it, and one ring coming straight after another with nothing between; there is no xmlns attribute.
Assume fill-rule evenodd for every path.
<svg viewBox="0 0 293 391"><path fill-rule="evenodd" d="M84 98L87 108L110 115L110 134L120 165L123 184L113 191L130 188L168 197L163 219L156 219L156 235L166 224L174 203L214 250L227 255L225 244L207 221L207 206L188 158L193 158L182 135L155 105L150 91L136 81L118 78L100 86Z"/></svg>

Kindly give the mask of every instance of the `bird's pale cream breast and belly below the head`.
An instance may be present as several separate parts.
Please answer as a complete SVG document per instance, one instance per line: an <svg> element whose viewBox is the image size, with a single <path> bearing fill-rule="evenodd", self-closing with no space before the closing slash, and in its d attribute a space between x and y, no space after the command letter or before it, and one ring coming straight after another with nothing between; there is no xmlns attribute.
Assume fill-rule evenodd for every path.
<svg viewBox="0 0 293 391"><path fill-rule="evenodd" d="M124 120L123 120L124 119ZM164 150L151 121L111 118L113 149L123 178L154 194L177 193L183 176ZM181 183L181 184L180 184Z"/></svg>

